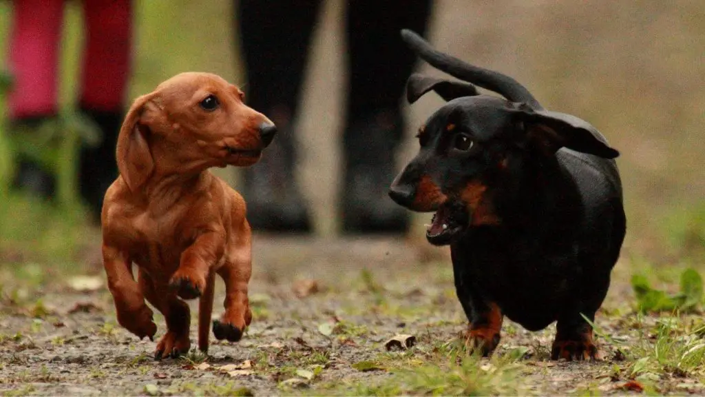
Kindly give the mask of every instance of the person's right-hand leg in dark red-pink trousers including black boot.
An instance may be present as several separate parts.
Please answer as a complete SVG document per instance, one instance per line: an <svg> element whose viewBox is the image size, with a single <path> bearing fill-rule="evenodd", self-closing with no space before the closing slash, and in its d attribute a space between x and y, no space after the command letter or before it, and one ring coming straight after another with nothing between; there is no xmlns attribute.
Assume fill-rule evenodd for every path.
<svg viewBox="0 0 705 397"><path fill-rule="evenodd" d="M100 127L97 147L81 149L79 179L82 198L99 216L103 196L118 175L115 147L122 122L132 54L130 0L84 0L86 24L82 112Z"/></svg>

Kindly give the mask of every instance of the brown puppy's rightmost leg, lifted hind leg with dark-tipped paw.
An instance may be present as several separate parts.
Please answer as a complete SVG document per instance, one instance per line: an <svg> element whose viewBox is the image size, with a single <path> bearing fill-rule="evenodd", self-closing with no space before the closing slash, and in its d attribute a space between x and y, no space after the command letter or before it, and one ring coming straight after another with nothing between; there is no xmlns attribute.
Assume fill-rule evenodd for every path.
<svg viewBox="0 0 705 397"><path fill-rule="evenodd" d="M226 262L218 269L225 281L225 312L220 321L213 321L213 333L218 340L237 342L242 338L245 327L252 321L250 301L247 299L247 283L252 273L252 243L250 225L244 220L238 241L226 255Z"/></svg>

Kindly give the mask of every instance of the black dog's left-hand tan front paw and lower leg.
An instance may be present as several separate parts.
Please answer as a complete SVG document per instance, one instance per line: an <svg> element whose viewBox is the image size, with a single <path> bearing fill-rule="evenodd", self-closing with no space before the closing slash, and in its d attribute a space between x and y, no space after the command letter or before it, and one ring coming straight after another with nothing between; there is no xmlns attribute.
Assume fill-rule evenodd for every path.
<svg viewBox="0 0 705 397"><path fill-rule="evenodd" d="M477 304L473 307L470 326L465 332L465 345L472 351L479 349L484 357L494 352L499 344L504 316L494 304Z"/></svg>

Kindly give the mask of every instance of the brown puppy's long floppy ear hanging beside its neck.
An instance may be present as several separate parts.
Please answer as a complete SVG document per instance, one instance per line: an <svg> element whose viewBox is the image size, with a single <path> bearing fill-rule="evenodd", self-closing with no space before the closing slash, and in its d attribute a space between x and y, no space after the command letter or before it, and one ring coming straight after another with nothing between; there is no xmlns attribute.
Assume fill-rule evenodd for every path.
<svg viewBox="0 0 705 397"><path fill-rule="evenodd" d="M139 189L154 171L154 159L149 150L148 136L145 136L149 134L149 127L140 125L142 112L154 95L142 95L135 100L118 135L118 170L131 191Z"/></svg>

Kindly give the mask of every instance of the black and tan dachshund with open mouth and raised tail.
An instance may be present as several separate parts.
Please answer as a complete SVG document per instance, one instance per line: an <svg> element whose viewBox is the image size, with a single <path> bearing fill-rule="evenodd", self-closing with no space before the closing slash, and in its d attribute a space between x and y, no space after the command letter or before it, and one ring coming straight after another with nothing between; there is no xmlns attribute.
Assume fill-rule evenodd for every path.
<svg viewBox="0 0 705 397"><path fill-rule="evenodd" d="M450 244L466 336L489 355L503 316L530 331L558 321L551 358L595 358L590 321L625 236L619 153L587 122L539 105L513 78L403 40L460 81L412 75L407 99L448 101L419 129L419 153L389 195L435 211L431 244ZM502 97L481 95L473 85Z"/></svg>

